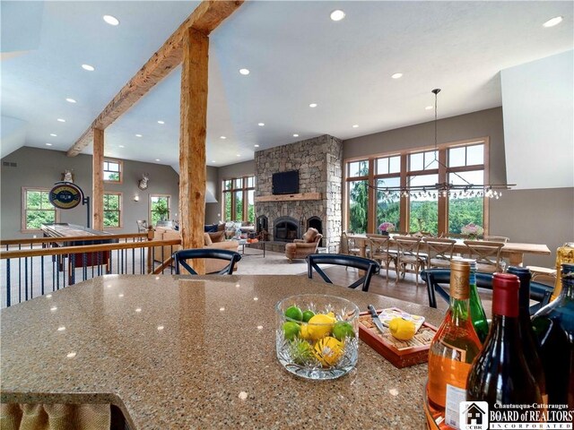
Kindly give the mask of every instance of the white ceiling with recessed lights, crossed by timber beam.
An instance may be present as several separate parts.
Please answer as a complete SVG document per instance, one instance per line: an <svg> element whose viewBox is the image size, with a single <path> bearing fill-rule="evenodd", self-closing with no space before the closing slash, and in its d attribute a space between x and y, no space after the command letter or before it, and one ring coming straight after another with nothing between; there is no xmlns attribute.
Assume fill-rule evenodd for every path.
<svg viewBox="0 0 574 430"><path fill-rule="evenodd" d="M197 4L2 1L2 156L47 142L68 150ZM342 22L329 19L336 8ZM572 49L573 9L550 1L248 1L210 37L207 163L253 159L255 144L430 121L424 107L437 87L439 117L500 106L500 70ZM542 27L557 15L564 22ZM239 74L242 67L251 73ZM179 74L106 130L107 156L178 169Z"/></svg>

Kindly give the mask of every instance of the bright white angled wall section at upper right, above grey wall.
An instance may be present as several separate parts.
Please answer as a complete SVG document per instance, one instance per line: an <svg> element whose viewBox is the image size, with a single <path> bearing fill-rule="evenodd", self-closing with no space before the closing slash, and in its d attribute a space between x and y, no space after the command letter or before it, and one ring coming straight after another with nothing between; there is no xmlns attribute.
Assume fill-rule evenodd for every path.
<svg viewBox="0 0 574 430"><path fill-rule="evenodd" d="M574 186L574 51L500 72L506 173L516 189Z"/></svg>

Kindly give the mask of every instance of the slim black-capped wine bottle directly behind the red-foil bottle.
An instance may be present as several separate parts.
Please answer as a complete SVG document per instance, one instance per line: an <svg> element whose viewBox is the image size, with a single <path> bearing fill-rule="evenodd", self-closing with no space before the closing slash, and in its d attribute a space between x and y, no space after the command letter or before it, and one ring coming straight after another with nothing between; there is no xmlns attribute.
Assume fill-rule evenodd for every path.
<svg viewBox="0 0 574 430"><path fill-rule="evenodd" d="M546 376L542 360L540 359L540 346L530 322L530 279L532 274L524 267L515 266L510 266L507 272L516 275L520 281L520 289L518 290L518 336L522 340L522 349L530 373L535 377L536 383L538 383L543 402L547 403Z"/></svg>

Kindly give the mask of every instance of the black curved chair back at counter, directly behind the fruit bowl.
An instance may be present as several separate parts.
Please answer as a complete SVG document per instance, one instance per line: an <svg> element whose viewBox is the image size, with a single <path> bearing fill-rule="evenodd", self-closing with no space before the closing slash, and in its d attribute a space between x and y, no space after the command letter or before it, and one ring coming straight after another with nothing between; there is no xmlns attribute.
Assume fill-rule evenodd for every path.
<svg viewBox="0 0 574 430"><path fill-rule="evenodd" d="M356 255L311 254L307 256L307 262L309 279L313 279L313 270L315 270L317 271L317 274L326 281L327 284L332 284L333 281L330 280L325 271L319 267L320 264L344 266L345 268L352 267L358 269L359 271L364 271L364 274L358 280L355 280L351 285L348 286L348 288L361 287L362 291L369 291L370 280L372 276L376 275L380 271L378 262L368 258L357 257Z"/></svg>

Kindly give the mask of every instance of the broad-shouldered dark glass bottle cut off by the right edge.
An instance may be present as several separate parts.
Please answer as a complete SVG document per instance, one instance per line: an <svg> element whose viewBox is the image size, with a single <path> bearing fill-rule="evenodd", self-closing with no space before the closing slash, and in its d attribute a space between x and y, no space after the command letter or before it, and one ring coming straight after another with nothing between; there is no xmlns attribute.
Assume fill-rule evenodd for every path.
<svg viewBox="0 0 574 430"><path fill-rule="evenodd" d="M532 323L540 342L548 403L574 409L574 264L562 264L561 292Z"/></svg>

